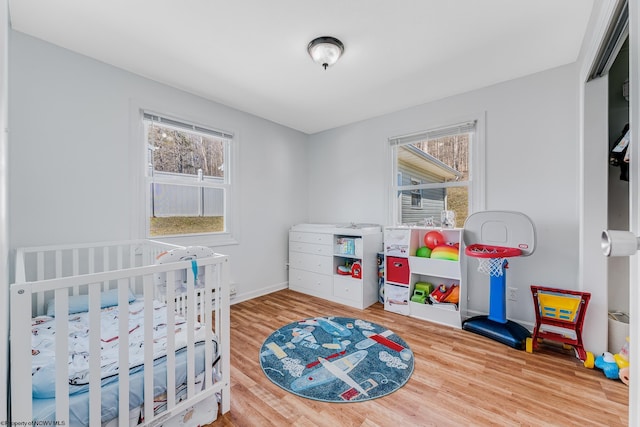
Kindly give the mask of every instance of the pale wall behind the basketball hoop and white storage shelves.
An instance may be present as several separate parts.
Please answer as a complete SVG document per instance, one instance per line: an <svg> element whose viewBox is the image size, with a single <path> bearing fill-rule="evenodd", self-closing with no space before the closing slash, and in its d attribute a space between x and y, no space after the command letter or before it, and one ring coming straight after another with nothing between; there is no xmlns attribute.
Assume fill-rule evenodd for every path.
<svg viewBox="0 0 640 427"><path fill-rule="evenodd" d="M310 220L385 223L387 138L486 112L485 207L524 212L537 228L536 252L507 273L518 288L508 316L533 324L531 284L580 289L578 88L568 65L312 135ZM488 279L471 280L470 309L486 313Z"/></svg>

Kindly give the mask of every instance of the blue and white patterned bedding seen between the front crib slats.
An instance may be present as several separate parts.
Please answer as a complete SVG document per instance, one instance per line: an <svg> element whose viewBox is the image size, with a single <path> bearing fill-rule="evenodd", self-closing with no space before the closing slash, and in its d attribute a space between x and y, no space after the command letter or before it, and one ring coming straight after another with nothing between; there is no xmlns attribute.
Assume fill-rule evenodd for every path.
<svg viewBox="0 0 640 427"><path fill-rule="evenodd" d="M129 388L130 408L143 403L144 390L144 301L135 299L129 306ZM166 304L153 302L154 396L166 392ZM106 307L100 313L102 421L117 417L119 309ZM32 319L32 382L34 420L55 420L55 319L38 316ZM186 382L186 320L175 315L176 385ZM89 419L89 317L87 312L69 315L69 400L71 425L87 425ZM196 322L195 372L204 371L205 330ZM214 339L214 355L218 354Z"/></svg>

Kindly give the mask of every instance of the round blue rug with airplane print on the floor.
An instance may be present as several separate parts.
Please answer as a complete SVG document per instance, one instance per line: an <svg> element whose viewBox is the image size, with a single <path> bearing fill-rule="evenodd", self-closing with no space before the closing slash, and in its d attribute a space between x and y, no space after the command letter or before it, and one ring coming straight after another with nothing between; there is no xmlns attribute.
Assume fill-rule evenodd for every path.
<svg viewBox="0 0 640 427"><path fill-rule="evenodd" d="M386 396L413 373L413 352L389 329L347 317L286 325L262 344L265 375L298 396L357 402Z"/></svg>

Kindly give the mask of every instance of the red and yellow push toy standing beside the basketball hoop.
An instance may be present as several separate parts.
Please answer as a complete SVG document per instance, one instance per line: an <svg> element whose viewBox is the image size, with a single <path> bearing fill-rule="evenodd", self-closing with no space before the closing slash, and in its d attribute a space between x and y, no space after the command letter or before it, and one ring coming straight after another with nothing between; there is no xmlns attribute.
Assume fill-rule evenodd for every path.
<svg viewBox="0 0 640 427"><path fill-rule="evenodd" d="M536 326L527 338L526 350L532 353L543 339L571 346L585 367L594 365L593 353L584 349L582 325L589 305L589 292L531 286Z"/></svg>

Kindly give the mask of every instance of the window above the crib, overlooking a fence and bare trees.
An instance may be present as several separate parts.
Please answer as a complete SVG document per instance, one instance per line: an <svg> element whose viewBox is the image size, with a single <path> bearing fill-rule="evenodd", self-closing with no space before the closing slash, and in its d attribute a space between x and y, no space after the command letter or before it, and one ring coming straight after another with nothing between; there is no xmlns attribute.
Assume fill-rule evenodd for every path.
<svg viewBox="0 0 640 427"><path fill-rule="evenodd" d="M143 113L147 237L228 234L233 135Z"/></svg>

